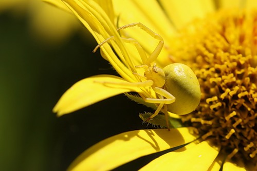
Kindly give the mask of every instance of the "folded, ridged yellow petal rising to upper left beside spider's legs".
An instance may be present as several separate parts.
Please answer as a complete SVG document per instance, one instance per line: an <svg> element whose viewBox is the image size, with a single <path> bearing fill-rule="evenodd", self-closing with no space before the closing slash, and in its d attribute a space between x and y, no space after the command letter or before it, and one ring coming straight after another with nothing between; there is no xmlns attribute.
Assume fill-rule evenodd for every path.
<svg viewBox="0 0 257 171"><path fill-rule="evenodd" d="M115 41L111 43L116 52L122 54L119 57L123 62L117 58L113 49L108 44L104 44L101 49L105 58L112 64L122 78L130 82L135 82L135 75L131 72L131 70L135 72L135 66L132 65L126 49L120 40L120 35L105 11L95 1L63 0L63 2L79 18L98 43L103 42L110 36L115 37Z"/></svg>

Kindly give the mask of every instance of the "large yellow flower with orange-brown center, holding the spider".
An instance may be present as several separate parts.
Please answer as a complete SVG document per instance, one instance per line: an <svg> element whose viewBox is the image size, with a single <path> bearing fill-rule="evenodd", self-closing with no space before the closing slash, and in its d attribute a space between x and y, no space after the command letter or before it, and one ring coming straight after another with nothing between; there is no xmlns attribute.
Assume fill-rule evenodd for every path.
<svg viewBox="0 0 257 171"><path fill-rule="evenodd" d="M256 170L257 14L251 11L257 5L255 1L117 0L113 1L114 8L109 1L63 2L95 36L103 58L123 79L100 75L76 83L54 107L59 116L131 91L144 100L163 103L155 89L162 86L153 86L156 82L150 77L143 80L139 74L144 75L145 70L135 69L147 65L148 60L142 58L144 52L151 56L155 47L161 47L156 46L156 36L149 36L154 35L151 31L145 34L145 27L143 31L123 27L119 34L116 25L141 22L160 34L165 44L154 62L161 68L174 62L187 64L197 75L202 93L196 110L179 117L188 127L124 132L84 151L69 169L109 170L141 156L185 145L142 170ZM109 37L114 41L106 42ZM161 42L157 35L157 44ZM107 43L112 44L119 59ZM160 109L164 113L165 106Z"/></svg>

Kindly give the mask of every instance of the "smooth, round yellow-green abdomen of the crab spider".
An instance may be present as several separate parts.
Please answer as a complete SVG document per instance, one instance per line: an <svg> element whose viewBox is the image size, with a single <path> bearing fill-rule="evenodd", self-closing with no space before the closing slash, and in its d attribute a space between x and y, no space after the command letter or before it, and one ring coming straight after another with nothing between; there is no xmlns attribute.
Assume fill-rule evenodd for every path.
<svg viewBox="0 0 257 171"><path fill-rule="evenodd" d="M176 101L168 105L168 110L178 115L192 112L200 102L200 85L196 75L187 65L170 64L163 68L166 75L164 89L169 91Z"/></svg>

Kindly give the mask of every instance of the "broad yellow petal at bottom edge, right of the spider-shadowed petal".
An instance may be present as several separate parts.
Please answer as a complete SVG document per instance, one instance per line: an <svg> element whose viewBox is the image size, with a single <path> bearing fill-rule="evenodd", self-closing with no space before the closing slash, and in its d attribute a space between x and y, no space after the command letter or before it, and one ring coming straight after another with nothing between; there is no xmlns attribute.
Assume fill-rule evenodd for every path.
<svg viewBox="0 0 257 171"><path fill-rule="evenodd" d="M203 141L184 151L176 150L153 160L141 170L206 171L218 155L219 148Z"/></svg>

